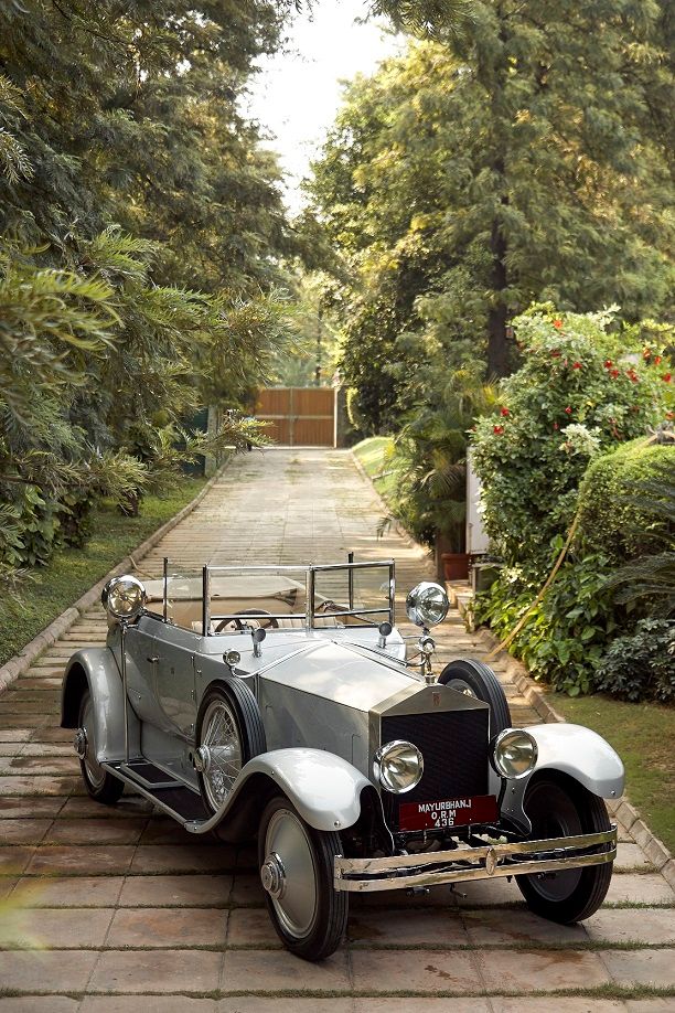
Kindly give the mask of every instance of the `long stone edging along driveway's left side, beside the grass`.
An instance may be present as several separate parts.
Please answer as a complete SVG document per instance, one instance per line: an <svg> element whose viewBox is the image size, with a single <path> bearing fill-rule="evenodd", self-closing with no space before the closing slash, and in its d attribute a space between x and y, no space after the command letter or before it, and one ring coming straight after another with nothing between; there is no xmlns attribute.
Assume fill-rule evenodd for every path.
<svg viewBox="0 0 675 1013"><path fill-rule="evenodd" d="M148 555L151 548L161 542L165 534L168 534L176 524L180 524L184 518L186 518L192 511L199 506L204 497L211 489L215 486L217 479L225 470L227 465L223 465L216 473L208 479L203 489L200 489L197 494L190 503L183 506L182 510L179 510L174 516L165 521L161 527L158 527L144 542L141 542L129 555L125 556L113 569L110 569L105 577L101 577L94 587L90 587L88 591L85 591L77 601L74 601L61 616L57 616L53 622L50 622L42 632L38 633L29 643L25 644L23 650L18 654L14 654L13 658L10 658L9 661L6 661L3 665L0 665L0 694L4 692L7 686L11 685L20 675L23 675L30 667L33 664L36 658L40 658L47 648L50 648L60 637L62 637L71 627L87 611L92 608L99 598L100 593L104 589L106 583L110 577L116 577L118 574L128 573L130 569L136 569L137 564L140 559L144 558Z"/></svg>

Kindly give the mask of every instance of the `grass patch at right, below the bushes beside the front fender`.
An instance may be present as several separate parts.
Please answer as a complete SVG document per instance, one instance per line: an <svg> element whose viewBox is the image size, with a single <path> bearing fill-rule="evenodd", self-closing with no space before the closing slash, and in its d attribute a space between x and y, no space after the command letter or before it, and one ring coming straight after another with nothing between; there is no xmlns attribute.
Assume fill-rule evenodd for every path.
<svg viewBox="0 0 675 1013"><path fill-rule="evenodd" d="M610 743L625 766L625 790L650 829L675 854L675 710L609 696L549 693L562 716Z"/></svg>

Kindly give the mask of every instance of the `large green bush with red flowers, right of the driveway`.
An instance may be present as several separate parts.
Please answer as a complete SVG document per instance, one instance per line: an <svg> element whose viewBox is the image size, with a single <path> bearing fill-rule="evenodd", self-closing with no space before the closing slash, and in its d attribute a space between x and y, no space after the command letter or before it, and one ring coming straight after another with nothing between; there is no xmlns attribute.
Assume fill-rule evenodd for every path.
<svg viewBox="0 0 675 1013"><path fill-rule="evenodd" d="M499 419L472 437L485 527L508 565L544 575L589 461L666 418L671 374L654 341L665 333L612 331L612 316L537 307L514 321L523 366L502 383Z"/></svg>

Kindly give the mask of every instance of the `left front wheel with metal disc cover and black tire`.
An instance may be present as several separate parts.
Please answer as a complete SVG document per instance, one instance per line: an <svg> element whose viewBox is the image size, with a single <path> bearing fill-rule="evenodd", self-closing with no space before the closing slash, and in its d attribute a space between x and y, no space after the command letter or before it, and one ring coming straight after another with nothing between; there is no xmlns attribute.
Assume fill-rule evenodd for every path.
<svg viewBox="0 0 675 1013"><path fill-rule="evenodd" d="M267 908L281 942L303 960L334 953L347 924L347 895L333 887L336 833L314 830L281 796L260 819L258 860Z"/></svg>

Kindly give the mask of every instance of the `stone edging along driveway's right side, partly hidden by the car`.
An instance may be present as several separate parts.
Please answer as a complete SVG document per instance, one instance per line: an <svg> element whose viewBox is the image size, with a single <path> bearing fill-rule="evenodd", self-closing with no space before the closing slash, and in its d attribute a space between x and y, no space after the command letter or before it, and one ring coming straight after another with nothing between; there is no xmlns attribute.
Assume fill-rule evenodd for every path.
<svg viewBox="0 0 675 1013"><path fill-rule="evenodd" d="M463 618L464 608L459 601L453 588L451 588L451 595L453 595L458 611ZM474 630L474 636L480 637L486 647L490 647L492 650L499 647L501 642L485 627L480 627L478 630ZM511 654L504 651L500 651L497 657L505 659L505 674L513 681L518 693L521 693L544 722L565 722L562 715L558 714L555 707L548 703L544 695L544 691L534 682L522 661L518 661L517 658L512 658ZM607 804L608 809L610 809L615 818L621 821L621 825L642 849L652 865L661 873L668 886L675 889L675 859L663 841L650 830L638 809L635 809L625 797L613 803L609 801Z"/></svg>

